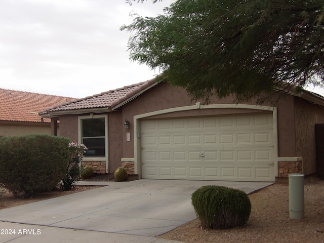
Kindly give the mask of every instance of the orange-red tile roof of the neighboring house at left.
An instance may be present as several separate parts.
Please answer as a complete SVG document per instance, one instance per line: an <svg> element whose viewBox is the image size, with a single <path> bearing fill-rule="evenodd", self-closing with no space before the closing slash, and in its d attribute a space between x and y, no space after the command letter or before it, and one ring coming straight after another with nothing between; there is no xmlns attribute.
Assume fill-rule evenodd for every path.
<svg viewBox="0 0 324 243"><path fill-rule="evenodd" d="M50 119L39 116L39 110L72 100L75 98L0 88L0 121L50 123Z"/></svg>

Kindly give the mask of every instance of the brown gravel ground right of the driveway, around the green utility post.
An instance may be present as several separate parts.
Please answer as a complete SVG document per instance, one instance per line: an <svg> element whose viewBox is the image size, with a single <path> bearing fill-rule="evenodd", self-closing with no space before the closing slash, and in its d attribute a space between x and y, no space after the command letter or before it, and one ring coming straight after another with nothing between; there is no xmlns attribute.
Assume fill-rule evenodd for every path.
<svg viewBox="0 0 324 243"><path fill-rule="evenodd" d="M289 218L289 186L274 184L250 194L248 224L226 230L202 228L198 219L160 238L192 243L207 242L324 242L324 181L305 179L303 219Z"/></svg>

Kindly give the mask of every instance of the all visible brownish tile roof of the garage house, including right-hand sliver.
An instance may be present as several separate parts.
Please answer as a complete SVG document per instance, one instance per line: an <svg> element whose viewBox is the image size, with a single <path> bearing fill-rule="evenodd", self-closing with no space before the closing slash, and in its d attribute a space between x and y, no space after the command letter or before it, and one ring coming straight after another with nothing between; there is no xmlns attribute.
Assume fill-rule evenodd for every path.
<svg viewBox="0 0 324 243"><path fill-rule="evenodd" d="M158 84L156 78L147 80L139 84L125 86L116 90L110 90L101 94L89 96L83 99L67 102L62 105L47 108L40 111L43 117L52 117L60 114L82 114L87 112L108 112L112 111L125 103L133 100L144 91ZM287 93L285 90L282 92ZM310 102L324 106L324 97L310 91L296 92L295 88L288 91L290 95L298 96Z"/></svg>

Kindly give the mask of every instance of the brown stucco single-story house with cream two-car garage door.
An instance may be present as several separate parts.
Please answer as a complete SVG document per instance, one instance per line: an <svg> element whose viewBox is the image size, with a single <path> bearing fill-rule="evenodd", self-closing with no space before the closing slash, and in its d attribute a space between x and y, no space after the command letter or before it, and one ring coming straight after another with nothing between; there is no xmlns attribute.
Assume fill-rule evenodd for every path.
<svg viewBox="0 0 324 243"><path fill-rule="evenodd" d="M151 79L39 114L89 147L83 163L97 173L123 166L145 179L274 182L316 173L314 127L324 124L323 106L322 96L293 90L275 105L233 97L203 105Z"/></svg>

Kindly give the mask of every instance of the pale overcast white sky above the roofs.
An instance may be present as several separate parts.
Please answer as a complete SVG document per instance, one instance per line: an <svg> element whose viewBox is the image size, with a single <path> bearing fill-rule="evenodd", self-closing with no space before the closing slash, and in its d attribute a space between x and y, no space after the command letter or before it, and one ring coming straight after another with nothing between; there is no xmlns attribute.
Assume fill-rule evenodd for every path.
<svg viewBox="0 0 324 243"><path fill-rule="evenodd" d="M0 0L0 88L83 98L153 78L129 60L119 27L171 2Z"/></svg>

